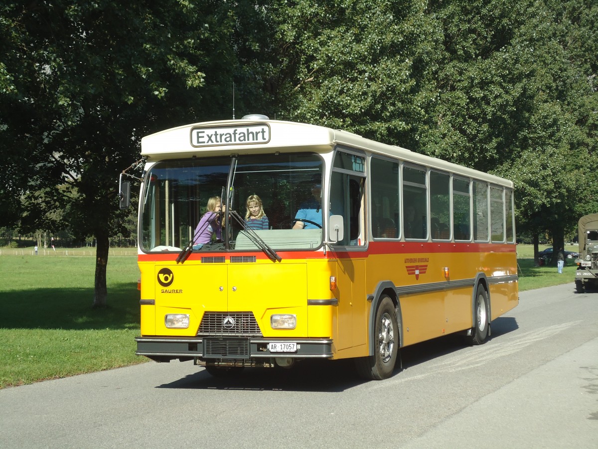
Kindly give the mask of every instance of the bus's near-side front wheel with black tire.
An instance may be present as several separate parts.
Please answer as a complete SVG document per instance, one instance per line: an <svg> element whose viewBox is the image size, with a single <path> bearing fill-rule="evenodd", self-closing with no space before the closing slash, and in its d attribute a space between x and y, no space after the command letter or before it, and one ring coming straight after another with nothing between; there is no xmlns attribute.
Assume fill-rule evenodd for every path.
<svg viewBox="0 0 598 449"><path fill-rule="evenodd" d="M374 340L374 355L355 359L357 372L367 380L387 379L395 371L401 341L395 305L388 296L380 299L371 338Z"/></svg>

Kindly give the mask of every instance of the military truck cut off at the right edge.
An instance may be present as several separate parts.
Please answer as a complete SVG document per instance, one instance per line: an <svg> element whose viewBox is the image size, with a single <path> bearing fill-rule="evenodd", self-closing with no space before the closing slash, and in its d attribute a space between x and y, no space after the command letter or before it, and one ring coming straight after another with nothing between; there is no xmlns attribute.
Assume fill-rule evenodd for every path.
<svg viewBox="0 0 598 449"><path fill-rule="evenodd" d="M575 259L575 289L598 289L598 214L581 217L578 222L579 258Z"/></svg>

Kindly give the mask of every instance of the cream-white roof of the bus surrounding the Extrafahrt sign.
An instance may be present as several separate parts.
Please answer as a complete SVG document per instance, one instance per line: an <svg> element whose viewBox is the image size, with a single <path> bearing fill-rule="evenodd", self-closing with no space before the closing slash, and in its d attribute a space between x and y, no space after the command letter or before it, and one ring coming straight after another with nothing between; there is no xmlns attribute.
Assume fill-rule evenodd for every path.
<svg viewBox="0 0 598 449"><path fill-rule="evenodd" d="M513 187L504 178L490 175L397 145L387 145L357 134L307 123L282 120L220 120L178 126L141 139L141 154L149 162L163 159L266 154L279 151L328 153L335 145L398 158L465 177Z"/></svg>

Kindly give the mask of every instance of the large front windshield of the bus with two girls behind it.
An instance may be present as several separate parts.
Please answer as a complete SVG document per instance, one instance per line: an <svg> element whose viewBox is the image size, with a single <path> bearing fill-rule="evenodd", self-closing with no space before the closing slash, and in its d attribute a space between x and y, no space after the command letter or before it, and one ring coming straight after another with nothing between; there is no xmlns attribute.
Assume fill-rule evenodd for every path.
<svg viewBox="0 0 598 449"><path fill-rule="evenodd" d="M315 153L157 162L145 177L141 248L260 251L262 242L273 250L314 250L322 244L322 172ZM261 202L257 215L248 200L254 213ZM230 214L218 214L226 205Z"/></svg>

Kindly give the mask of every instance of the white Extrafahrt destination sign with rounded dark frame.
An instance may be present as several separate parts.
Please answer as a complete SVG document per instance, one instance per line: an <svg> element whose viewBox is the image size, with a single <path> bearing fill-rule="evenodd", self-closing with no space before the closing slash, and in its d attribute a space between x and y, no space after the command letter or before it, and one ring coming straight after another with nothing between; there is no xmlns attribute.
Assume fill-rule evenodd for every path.
<svg viewBox="0 0 598 449"><path fill-rule="evenodd" d="M268 125L225 126L223 128L191 129L191 145L266 144L270 141Z"/></svg>

